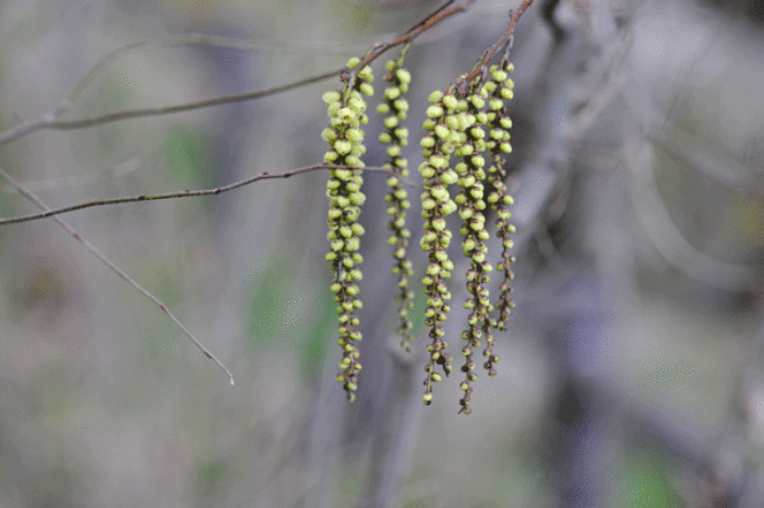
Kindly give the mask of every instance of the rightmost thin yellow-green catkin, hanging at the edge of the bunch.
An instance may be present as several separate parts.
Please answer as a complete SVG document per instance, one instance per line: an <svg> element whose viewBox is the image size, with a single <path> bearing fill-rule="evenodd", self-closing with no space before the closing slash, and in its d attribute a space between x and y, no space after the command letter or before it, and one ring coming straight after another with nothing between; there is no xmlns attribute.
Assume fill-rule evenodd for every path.
<svg viewBox="0 0 764 508"><path fill-rule="evenodd" d="M504 154L512 152L510 144L510 128L512 120L506 114L504 101L509 101L513 96L514 82L509 74L514 70L514 66L502 60L499 64L491 66L489 69L490 79L486 83L488 96L488 129L489 141L488 150L492 160L489 167L488 176L488 204L497 211L496 228L497 236L502 240L501 260L497 264L497 271L503 275L503 280L499 285L499 298L496 307L499 311L499 317L496 320L496 327L500 330L506 329L506 321L510 317L510 311L514 307L514 302L510 298L512 292L512 262L514 258L511 255L512 239L511 234L515 232L515 226L511 223L512 214L508 206L514 203L512 196L508 193L504 179L506 169L504 169ZM493 364L499 362L499 357L493 353L493 342L489 342L484 351L486 363L484 367L490 376L496 375Z"/></svg>

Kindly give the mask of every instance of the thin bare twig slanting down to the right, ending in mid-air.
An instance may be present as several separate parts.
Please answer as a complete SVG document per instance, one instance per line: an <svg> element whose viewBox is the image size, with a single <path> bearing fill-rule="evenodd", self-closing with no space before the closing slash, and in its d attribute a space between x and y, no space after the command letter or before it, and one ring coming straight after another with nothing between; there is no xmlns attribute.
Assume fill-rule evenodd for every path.
<svg viewBox="0 0 764 508"><path fill-rule="evenodd" d="M35 203L40 210L44 211L49 211L50 208L40 198L37 197L37 194L29 192L23 185L21 185L19 181L16 181L11 175L9 175L2 167L0 167L0 177L4 178L12 187L14 187L22 196L24 196L26 199ZM87 241L80 233L76 232L68 222L63 221L61 217L53 216L51 217L59 226L63 228L67 233L72 235L75 240L81 243L87 250L89 250L100 262L106 264L112 272L115 272L117 275L122 277L128 284L133 286L135 290L138 290L143 296L152 300L154 304L156 304L162 310L165 311L167 316L175 322L178 328L180 328L186 335L191 339L191 342L194 343L199 350L204 353L204 356L207 358L212 359L217 364L218 367L223 369L226 375L228 375L228 379L230 380L230 383L234 385L234 375L228 370L228 368L223 365L223 362L217 359L217 357L207 350L204 344L199 342L199 340L193 336L193 334L181 323L178 318L176 318L172 312L169 311L167 306L163 304L156 296L154 296L152 293L150 293L146 288L144 288L141 284L135 282L130 275L128 275L122 269L117 267L109 258L107 258L100 250L98 250L93 244Z"/></svg>

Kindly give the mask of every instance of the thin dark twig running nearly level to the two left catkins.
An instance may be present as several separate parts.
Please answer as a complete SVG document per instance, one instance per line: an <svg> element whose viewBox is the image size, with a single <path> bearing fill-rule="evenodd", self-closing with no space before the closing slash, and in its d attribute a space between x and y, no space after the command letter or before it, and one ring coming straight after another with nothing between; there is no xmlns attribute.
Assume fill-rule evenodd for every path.
<svg viewBox="0 0 764 508"><path fill-rule="evenodd" d="M248 186L250 184L254 184L255 181L259 180L268 180L268 179L277 179L277 178L289 178L295 175L301 175L303 173L309 173L309 172L314 172L318 169L333 169L333 168L346 168L346 169L362 169L365 172L380 172L380 173L393 173L391 168L387 167L362 167L358 168L355 166L336 166L336 165L330 165L330 164L315 164L313 166L306 166L306 167L300 167L297 169L293 169L290 172L286 173L276 173L276 174L271 174L267 172L261 173L260 175L255 175L250 178L246 178L243 180L236 181L234 184L229 184L227 186L223 187L216 187L214 189L203 189L203 190L180 190L176 192L166 192L166 193L158 193L158 194L139 194L139 196L123 196L120 198L108 198L108 199L98 199L98 200L93 200L93 201L86 201L84 203L77 203L77 204L72 204L70 206L62 206L60 209L44 209L44 212L40 213L32 213L28 215L20 215L17 217L10 217L10 218L0 218L0 226L4 226L7 224L16 224L20 222L28 222L28 221L36 221L39 218L46 218L46 217L51 217L53 215L59 215L62 213L68 213L68 212L74 212L75 210L83 210L92 206L104 206L107 204L119 204L119 203L131 203L131 202L136 202L136 201L159 201L164 199L174 199L174 198L199 198L202 196L216 196L223 192L227 192L229 190L238 189L239 187ZM402 177L398 177L402 181ZM406 181L408 185L414 185L413 182ZM15 187L15 186L14 186Z"/></svg>

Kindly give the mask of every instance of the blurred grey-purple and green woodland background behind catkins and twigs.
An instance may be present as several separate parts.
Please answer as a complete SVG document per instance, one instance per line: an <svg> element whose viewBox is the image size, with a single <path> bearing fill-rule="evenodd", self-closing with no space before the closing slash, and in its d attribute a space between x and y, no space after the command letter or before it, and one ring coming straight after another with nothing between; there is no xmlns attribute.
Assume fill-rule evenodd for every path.
<svg viewBox="0 0 764 508"><path fill-rule="evenodd" d="M518 3L478 0L409 50L411 169L427 96L471 70ZM5 0L0 128L53 110L126 45L150 43L99 67L62 118L339 70L438 4ZM418 341L397 348L384 175L365 184L353 404L335 381L324 173L63 215L235 387L52 221L0 227L0 507L764 506L763 28L761 0L536 0L521 19L517 307L469 416L457 368L421 403L416 276ZM175 44L183 34L238 43ZM0 145L0 166L53 208L282 173L322 160L321 95L336 86L40 131ZM384 162L380 130L372 116L368 165ZM35 211L0 182L0 216Z"/></svg>

